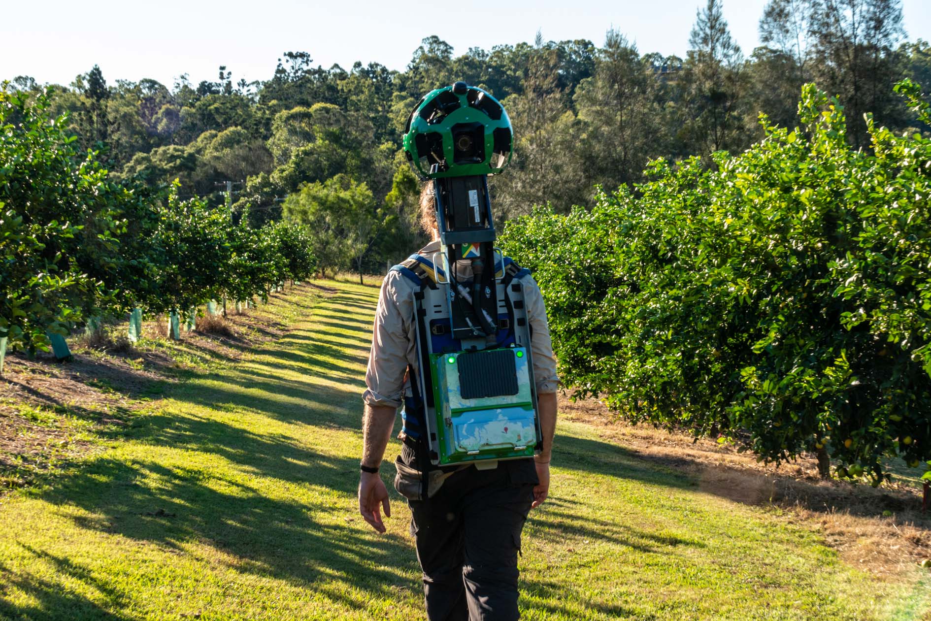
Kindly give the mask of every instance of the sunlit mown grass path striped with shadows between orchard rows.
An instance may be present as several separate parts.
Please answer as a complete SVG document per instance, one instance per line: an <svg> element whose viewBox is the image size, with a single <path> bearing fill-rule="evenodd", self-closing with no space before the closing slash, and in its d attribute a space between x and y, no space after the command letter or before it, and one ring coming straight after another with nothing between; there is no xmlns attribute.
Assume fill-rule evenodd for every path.
<svg viewBox="0 0 931 621"><path fill-rule="evenodd" d="M296 301L276 344L171 388L79 474L8 497L0 618L422 618L407 507L392 496L384 536L356 511L378 289L335 286ZM923 618L925 581L877 581L593 427L560 424L553 465L525 529L524 618Z"/></svg>

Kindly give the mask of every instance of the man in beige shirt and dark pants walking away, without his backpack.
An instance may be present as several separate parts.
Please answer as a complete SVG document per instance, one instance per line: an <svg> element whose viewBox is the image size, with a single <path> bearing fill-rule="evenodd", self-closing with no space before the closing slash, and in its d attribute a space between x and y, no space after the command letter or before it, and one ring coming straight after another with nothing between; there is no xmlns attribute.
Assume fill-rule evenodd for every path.
<svg viewBox="0 0 931 621"><path fill-rule="evenodd" d="M434 200L427 184L421 193L420 222L433 241L420 250L423 256L439 250ZM457 279L470 277L465 265L457 264L454 269ZM520 533L529 510L543 503L549 492L558 384L540 290L530 276L519 278L519 282L532 331L533 377L543 450L533 459L501 461L490 470L475 466L443 468L445 479L435 495L408 500L430 621L519 618ZM375 312L367 389L363 393L364 446L358 506L362 517L379 533L385 533L380 506L384 506L385 516L390 517L391 510L377 468L395 415L402 400L406 400L405 425L409 424L407 419L423 415L415 412L410 381L406 381L409 368L414 373L420 371L412 287L411 281L397 271L385 277ZM404 466L424 471L424 452L417 444L424 439L413 440L404 431L399 438L403 442L399 460Z"/></svg>

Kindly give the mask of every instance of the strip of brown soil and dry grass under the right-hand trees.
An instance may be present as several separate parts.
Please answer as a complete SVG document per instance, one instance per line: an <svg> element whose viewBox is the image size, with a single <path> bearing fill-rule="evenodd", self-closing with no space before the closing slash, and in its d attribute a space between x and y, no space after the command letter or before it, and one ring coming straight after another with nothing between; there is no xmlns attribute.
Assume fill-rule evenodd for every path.
<svg viewBox="0 0 931 621"><path fill-rule="evenodd" d="M757 462L749 452L683 433L629 425L596 399L560 396L560 417L597 425L600 437L641 459L689 474L703 492L746 505L771 506L785 520L819 533L843 560L897 579L931 559L931 520L921 492L906 483L873 489L823 480L814 455L782 466Z"/></svg>

